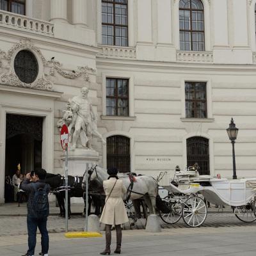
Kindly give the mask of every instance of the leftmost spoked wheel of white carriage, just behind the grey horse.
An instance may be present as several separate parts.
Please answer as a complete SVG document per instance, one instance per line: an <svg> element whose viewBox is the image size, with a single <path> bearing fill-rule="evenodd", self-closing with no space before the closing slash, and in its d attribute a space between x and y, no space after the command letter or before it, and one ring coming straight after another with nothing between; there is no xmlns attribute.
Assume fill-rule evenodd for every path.
<svg viewBox="0 0 256 256"><path fill-rule="evenodd" d="M159 211L160 218L167 224L177 223L182 216L182 204L172 202L170 196L165 196L163 201L166 202L171 211L167 213Z"/></svg>

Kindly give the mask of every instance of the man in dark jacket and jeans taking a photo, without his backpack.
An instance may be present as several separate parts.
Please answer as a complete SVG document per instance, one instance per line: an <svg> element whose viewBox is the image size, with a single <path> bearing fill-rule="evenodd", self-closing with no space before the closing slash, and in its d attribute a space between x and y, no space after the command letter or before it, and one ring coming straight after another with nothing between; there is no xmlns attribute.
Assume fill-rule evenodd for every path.
<svg viewBox="0 0 256 256"><path fill-rule="evenodd" d="M28 173L26 179L20 184L20 189L28 193L28 216L27 216L27 226L28 226L28 252L22 256L34 256L36 247L36 230L37 227L40 230L42 239L42 252L39 255L48 256L49 250L49 236L47 231L47 217L36 218L33 213L33 200L35 196L35 189L44 189L45 186L47 193L50 191L49 184L45 184L46 172L44 169L39 169L34 172ZM35 183L34 183L35 182Z"/></svg>

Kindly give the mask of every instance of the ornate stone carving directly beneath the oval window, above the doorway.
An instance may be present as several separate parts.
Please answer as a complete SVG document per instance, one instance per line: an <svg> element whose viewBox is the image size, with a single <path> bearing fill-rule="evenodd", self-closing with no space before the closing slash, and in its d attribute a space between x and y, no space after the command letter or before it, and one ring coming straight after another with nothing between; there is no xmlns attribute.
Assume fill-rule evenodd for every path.
<svg viewBox="0 0 256 256"><path fill-rule="evenodd" d="M47 81L44 77L36 79L36 81L31 84L26 84L20 81L19 77L17 77L12 72L9 74L3 74L0 77L0 81L2 84L17 86L17 87L24 87L24 88L33 88L33 89L39 89L39 90L51 90L52 88L51 81Z"/></svg>

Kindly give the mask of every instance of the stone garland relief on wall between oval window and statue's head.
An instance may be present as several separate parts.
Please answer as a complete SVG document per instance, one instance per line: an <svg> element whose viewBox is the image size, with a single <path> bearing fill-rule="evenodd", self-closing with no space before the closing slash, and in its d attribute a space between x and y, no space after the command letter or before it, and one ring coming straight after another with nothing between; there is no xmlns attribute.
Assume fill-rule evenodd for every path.
<svg viewBox="0 0 256 256"><path fill-rule="evenodd" d="M68 78L68 79L76 79L77 77L81 77L83 75L84 81L89 81L90 77L89 74L92 74L93 72L96 72L94 68L86 67L78 67L78 70L72 70L72 71L66 71L61 68L61 63L59 61L51 60L47 61L47 64L51 65L51 76L55 76L55 70L60 74L62 77Z"/></svg>

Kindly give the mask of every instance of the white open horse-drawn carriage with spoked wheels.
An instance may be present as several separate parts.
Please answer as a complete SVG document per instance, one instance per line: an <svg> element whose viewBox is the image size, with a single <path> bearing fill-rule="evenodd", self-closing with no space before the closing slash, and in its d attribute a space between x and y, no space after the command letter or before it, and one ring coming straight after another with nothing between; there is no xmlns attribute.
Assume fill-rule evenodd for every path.
<svg viewBox="0 0 256 256"><path fill-rule="evenodd" d="M205 200L217 205L230 205L236 217L244 222L256 220L255 193L256 178L215 179L209 175L199 175L196 170L175 173L177 184L163 186L169 195L163 200L164 211L159 211L166 223L176 223L182 217L189 227L199 227L207 216Z"/></svg>

